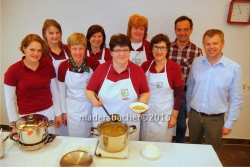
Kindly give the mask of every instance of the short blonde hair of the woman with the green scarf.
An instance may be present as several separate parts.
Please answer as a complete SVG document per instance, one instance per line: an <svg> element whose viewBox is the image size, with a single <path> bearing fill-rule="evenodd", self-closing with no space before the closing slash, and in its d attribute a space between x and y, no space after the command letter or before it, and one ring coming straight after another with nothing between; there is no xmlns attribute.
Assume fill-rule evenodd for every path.
<svg viewBox="0 0 250 167"><path fill-rule="evenodd" d="M83 33L73 32L67 40L69 49L72 45L84 45L87 48L87 39Z"/></svg>

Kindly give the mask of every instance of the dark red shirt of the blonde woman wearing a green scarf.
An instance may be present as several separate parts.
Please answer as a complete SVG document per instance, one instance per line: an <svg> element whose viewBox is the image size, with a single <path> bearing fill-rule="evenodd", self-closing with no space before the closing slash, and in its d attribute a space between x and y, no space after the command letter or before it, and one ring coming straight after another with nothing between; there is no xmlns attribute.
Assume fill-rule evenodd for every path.
<svg viewBox="0 0 250 167"><path fill-rule="evenodd" d="M95 71L95 69L99 66L99 61L92 57L86 56L86 66ZM72 70L73 66L69 63L69 60L63 61L58 68L58 81L64 82L67 70ZM76 73L84 73L81 71L76 71Z"/></svg>

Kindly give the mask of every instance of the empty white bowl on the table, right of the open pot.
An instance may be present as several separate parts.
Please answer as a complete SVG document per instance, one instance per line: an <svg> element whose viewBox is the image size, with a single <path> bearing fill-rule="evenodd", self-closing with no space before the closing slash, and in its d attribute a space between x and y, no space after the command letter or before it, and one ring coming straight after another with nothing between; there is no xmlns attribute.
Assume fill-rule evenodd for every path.
<svg viewBox="0 0 250 167"><path fill-rule="evenodd" d="M161 150L153 144L142 148L142 156L148 160L157 160L161 156Z"/></svg>

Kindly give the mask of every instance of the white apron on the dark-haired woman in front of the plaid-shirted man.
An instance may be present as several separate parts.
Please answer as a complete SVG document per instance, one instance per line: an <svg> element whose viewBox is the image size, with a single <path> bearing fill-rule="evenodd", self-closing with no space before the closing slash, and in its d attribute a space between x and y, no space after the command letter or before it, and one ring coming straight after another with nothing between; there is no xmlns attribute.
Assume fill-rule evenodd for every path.
<svg viewBox="0 0 250 167"><path fill-rule="evenodd" d="M153 63L154 61L152 61ZM171 89L167 79L166 65L164 73L146 72L150 98L149 109L146 114L159 115L160 120L142 121L140 140L154 142L171 142L173 128L168 128L168 115L171 115L174 104L174 91ZM164 117L161 116L164 115ZM158 119L155 117L155 119Z"/></svg>

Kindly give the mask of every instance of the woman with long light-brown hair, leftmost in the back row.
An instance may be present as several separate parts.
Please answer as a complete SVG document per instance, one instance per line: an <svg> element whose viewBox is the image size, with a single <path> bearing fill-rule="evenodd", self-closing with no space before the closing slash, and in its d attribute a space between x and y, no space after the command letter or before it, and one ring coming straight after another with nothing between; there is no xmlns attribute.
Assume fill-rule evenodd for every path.
<svg viewBox="0 0 250 167"><path fill-rule="evenodd" d="M44 56L44 58L52 62L56 71L56 76L58 76L58 67L60 63L69 58L68 46L62 43L62 29L60 24L56 20L46 19L43 24L42 35L45 44L48 47L48 54ZM58 85L57 77L56 77L56 83ZM57 129L57 134L68 135L67 128L62 125L60 129Z"/></svg>

